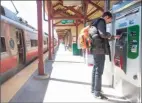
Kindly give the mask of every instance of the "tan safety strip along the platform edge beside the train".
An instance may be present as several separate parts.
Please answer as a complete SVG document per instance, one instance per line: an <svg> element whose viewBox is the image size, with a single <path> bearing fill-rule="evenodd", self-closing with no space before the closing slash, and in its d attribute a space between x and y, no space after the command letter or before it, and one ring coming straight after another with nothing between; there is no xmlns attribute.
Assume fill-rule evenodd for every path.
<svg viewBox="0 0 142 103"><path fill-rule="evenodd" d="M48 52L44 54L44 60ZM1 85L1 103L9 102L38 68L38 59Z"/></svg>

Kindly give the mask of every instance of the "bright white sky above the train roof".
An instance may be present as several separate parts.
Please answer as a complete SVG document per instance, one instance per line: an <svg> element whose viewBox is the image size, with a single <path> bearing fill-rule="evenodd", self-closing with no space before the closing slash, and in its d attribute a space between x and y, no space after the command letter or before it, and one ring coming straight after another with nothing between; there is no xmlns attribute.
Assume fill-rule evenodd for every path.
<svg viewBox="0 0 142 103"><path fill-rule="evenodd" d="M37 28L37 5L36 1L13 1L19 14L17 16L22 17L28 21L28 24ZM11 1L1 1L1 5L10 9L16 13ZM43 30L48 33L48 22L43 20ZM56 35L55 35L56 36Z"/></svg>

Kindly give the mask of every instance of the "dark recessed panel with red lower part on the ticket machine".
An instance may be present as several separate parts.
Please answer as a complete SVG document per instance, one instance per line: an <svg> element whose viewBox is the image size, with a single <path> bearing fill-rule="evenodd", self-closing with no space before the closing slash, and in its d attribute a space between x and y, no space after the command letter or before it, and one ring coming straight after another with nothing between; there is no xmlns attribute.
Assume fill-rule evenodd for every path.
<svg viewBox="0 0 142 103"><path fill-rule="evenodd" d="M114 63L126 73L127 63L127 29L118 29L116 34L120 36L115 43Z"/></svg>

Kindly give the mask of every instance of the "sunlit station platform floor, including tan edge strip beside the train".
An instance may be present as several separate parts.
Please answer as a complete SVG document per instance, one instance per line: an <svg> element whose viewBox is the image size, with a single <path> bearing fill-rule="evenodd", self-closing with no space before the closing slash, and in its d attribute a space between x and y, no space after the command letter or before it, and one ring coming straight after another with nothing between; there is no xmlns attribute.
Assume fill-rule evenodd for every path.
<svg viewBox="0 0 142 103"><path fill-rule="evenodd" d="M37 64L37 61L33 63ZM106 67L109 68L108 65ZM25 71L28 73L24 73ZM45 73L49 74L50 78L36 78L37 65L29 66L25 71L22 70L2 85L3 93L5 89L3 102L108 102L94 98L91 93L92 67L84 63L83 57L73 56L72 52L65 51L62 44L57 49L53 61L45 60ZM23 81L23 78L27 79ZM104 73L103 92L108 96L109 102L128 103L107 85L107 79ZM17 87L18 85L20 86Z"/></svg>

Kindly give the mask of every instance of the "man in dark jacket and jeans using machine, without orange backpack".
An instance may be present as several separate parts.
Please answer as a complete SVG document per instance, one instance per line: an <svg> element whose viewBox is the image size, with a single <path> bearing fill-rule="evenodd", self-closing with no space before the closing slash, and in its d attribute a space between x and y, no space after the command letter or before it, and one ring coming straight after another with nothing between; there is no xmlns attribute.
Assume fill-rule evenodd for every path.
<svg viewBox="0 0 142 103"><path fill-rule="evenodd" d="M102 74L104 71L105 55L110 56L109 40L114 40L114 36L106 32L106 24L112 21L112 14L105 12L102 17L95 19L91 23L91 28L94 27L96 33L90 34L92 38L91 52L94 56L94 67L92 72L92 93L96 98L107 99L101 93ZM92 29L93 30L93 29Z"/></svg>

